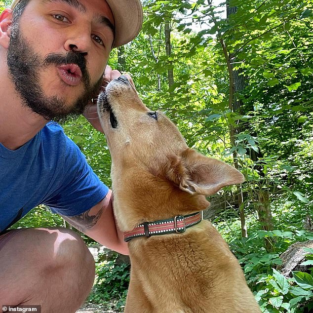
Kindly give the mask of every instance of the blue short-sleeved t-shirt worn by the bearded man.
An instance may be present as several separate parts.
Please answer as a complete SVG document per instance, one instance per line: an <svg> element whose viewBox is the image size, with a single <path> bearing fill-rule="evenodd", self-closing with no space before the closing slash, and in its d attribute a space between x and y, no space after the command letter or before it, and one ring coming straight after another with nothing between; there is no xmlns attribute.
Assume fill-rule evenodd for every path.
<svg viewBox="0 0 313 313"><path fill-rule="evenodd" d="M0 232L39 204L65 216L81 214L108 190L57 123L15 151L0 144Z"/></svg>

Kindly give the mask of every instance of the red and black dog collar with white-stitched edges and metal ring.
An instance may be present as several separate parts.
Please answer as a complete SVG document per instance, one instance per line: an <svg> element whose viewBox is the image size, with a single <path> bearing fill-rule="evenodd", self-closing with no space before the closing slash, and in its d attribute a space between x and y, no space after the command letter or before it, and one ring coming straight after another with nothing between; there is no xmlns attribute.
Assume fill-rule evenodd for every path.
<svg viewBox="0 0 313 313"><path fill-rule="evenodd" d="M203 211L190 215L178 215L169 220L156 222L144 222L136 226L132 231L123 233L124 241L129 241L136 237L150 237L153 235L163 235L171 233L184 233L187 228L200 223L203 219Z"/></svg>

